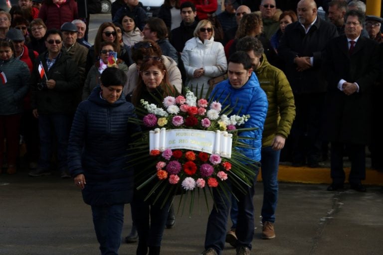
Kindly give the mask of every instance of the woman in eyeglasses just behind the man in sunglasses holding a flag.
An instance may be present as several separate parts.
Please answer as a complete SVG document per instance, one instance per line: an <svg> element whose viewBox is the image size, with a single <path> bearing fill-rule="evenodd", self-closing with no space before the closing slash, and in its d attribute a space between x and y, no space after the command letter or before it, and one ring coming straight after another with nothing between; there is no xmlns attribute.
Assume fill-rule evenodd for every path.
<svg viewBox="0 0 383 255"><path fill-rule="evenodd" d="M44 36L46 25L41 18L35 18L30 22L30 42L26 45L28 48L41 54L46 51Z"/></svg>

